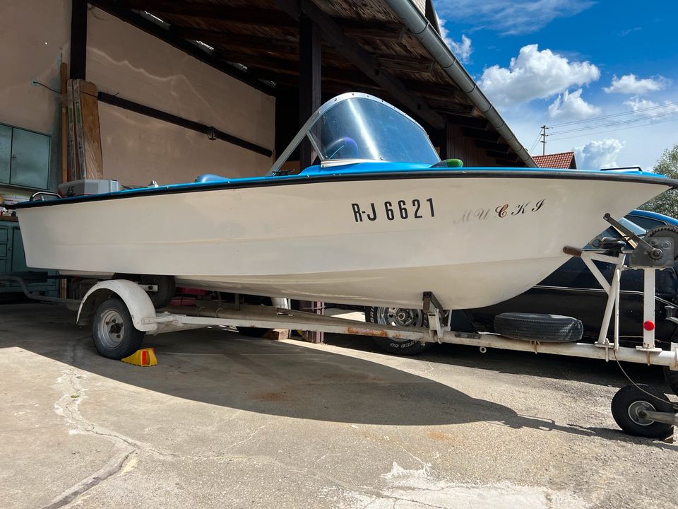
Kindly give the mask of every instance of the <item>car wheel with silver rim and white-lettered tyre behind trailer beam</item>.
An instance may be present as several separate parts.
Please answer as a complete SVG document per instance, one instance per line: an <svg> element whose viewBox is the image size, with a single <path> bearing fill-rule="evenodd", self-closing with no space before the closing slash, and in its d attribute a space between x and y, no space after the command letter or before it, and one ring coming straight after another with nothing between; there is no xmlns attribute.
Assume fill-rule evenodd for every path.
<svg viewBox="0 0 678 509"><path fill-rule="evenodd" d="M365 320L381 325L397 325L398 327L428 327L429 320L422 310L408 308L365 308ZM422 344L416 339L393 339L375 337L374 343L383 351L396 355L417 355L427 351L432 343Z"/></svg>

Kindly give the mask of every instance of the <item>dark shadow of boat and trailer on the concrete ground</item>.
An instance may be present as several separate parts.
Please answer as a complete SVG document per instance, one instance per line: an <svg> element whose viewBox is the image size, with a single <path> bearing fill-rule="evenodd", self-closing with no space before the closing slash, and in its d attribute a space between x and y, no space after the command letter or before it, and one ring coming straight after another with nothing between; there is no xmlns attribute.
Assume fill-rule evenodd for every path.
<svg viewBox="0 0 678 509"><path fill-rule="evenodd" d="M220 328L147 337L143 346L154 347L160 363L154 368L138 368L99 356L90 332L77 327L74 319L73 312L59 305L0 306L0 349L19 347L174 397L297 419L393 426L489 421L512 428L636 440L617 431L561 426L547 419L521 416L507 406L475 399L444 383L382 363L302 345L246 339ZM353 341L328 337L328 342L340 346ZM355 341L366 344L364 339ZM471 349L461 351L441 349L421 358L484 370L496 370L501 365L501 370L511 373L538 374L530 372L537 370L531 358L526 362L514 352L493 358L472 354ZM540 366L539 372L548 370L548 365L563 369L557 368L561 358L545 357L547 367ZM567 369L576 378L587 378L585 371L591 367L583 363ZM603 373L598 382L606 383L607 377Z"/></svg>

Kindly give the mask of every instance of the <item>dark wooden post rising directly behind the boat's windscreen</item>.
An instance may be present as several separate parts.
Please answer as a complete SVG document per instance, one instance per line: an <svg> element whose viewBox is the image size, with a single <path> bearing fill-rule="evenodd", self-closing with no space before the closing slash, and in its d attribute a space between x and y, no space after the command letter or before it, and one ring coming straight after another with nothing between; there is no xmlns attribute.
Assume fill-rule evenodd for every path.
<svg viewBox="0 0 678 509"><path fill-rule="evenodd" d="M316 24L306 16L299 17L299 127L320 107L321 102L321 39ZM313 164L315 153L311 143L304 139L299 145L299 168ZM318 315L324 314L320 302L303 302ZM311 343L322 343L322 332L307 332L304 338Z"/></svg>

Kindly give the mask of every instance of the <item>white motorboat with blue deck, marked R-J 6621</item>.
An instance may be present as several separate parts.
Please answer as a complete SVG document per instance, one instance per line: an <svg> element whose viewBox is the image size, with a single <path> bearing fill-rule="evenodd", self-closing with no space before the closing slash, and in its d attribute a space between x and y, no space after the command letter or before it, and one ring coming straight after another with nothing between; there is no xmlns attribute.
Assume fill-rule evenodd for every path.
<svg viewBox="0 0 678 509"><path fill-rule="evenodd" d="M304 136L319 164L280 168ZM324 104L266 176L15 206L30 267L345 304L479 308L522 293L677 180L648 172L450 168L370 95Z"/></svg>

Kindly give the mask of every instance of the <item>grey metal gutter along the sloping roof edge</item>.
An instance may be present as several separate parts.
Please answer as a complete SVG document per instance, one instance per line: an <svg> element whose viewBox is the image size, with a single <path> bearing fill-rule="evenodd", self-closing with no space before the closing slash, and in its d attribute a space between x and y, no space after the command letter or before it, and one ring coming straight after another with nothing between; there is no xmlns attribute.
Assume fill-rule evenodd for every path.
<svg viewBox="0 0 678 509"><path fill-rule="evenodd" d="M439 33L436 32L433 25L412 3L412 0L386 0L386 4L391 7L393 13L410 30L412 35L422 42L435 61L442 67L443 71L451 80L462 90L475 107L483 113L485 118L496 129L502 138L506 140L513 151L529 168L537 168L537 163L533 160L523 144L518 141L513 131L506 125L496 108L485 97L482 90L478 88L477 83L473 81L470 74L464 69L464 66L454 56L451 49L447 47Z"/></svg>

